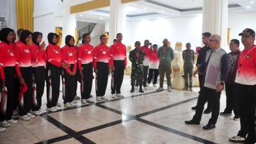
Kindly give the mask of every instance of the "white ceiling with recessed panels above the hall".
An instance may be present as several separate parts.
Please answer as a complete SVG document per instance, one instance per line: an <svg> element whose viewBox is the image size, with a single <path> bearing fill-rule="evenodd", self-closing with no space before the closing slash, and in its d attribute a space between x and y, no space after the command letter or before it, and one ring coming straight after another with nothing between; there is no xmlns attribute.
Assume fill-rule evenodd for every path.
<svg viewBox="0 0 256 144"><path fill-rule="evenodd" d="M204 0L143 0L125 4L127 20L180 17L202 13ZM228 0L229 12L256 12L256 0ZM77 20L105 22L109 7L76 13Z"/></svg>

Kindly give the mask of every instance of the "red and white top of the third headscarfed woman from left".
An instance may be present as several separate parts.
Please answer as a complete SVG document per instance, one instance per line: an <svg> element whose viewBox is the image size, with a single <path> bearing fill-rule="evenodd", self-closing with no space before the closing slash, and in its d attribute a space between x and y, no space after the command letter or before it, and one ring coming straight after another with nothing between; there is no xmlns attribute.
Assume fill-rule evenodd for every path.
<svg viewBox="0 0 256 144"><path fill-rule="evenodd" d="M45 61L47 61L46 52L41 50L40 47L34 43L30 46L30 49L32 56L32 67L45 66Z"/></svg>

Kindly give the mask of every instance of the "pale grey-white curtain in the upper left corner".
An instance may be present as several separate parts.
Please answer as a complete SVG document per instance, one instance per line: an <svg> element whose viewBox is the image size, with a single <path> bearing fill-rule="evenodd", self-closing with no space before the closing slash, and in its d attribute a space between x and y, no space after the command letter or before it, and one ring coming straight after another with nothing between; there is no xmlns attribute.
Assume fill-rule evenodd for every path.
<svg viewBox="0 0 256 144"><path fill-rule="evenodd" d="M0 0L0 17L4 17L8 28L17 30L16 0Z"/></svg>

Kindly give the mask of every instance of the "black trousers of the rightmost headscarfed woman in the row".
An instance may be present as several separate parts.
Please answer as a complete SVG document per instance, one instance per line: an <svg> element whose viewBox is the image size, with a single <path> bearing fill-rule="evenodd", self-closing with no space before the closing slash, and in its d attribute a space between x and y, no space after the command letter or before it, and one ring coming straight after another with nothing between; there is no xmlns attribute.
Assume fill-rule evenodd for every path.
<svg viewBox="0 0 256 144"><path fill-rule="evenodd" d="M70 65L70 70L73 70L74 64ZM76 96L76 75L69 76L65 69L61 71L61 79L62 79L62 98L64 100L64 104L67 102L72 102L74 97Z"/></svg>

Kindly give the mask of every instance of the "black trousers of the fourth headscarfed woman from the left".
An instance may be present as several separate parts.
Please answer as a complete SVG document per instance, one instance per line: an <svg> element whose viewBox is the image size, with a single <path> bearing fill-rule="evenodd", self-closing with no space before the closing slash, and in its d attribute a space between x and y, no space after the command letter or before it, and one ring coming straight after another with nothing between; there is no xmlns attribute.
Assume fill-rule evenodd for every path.
<svg viewBox="0 0 256 144"><path fill-rule="evenodd" d="M46 88L47 88L47 108L52 108L56 106L59 95L60 95L60 75L61 68L48 63L47 68L47 79L46 79Z"/></svg>

